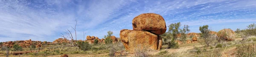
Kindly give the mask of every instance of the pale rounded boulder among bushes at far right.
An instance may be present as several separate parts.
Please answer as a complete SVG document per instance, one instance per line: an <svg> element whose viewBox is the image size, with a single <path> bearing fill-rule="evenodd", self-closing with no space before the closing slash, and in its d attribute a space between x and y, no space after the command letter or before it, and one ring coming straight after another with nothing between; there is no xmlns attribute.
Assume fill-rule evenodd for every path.
<svg viewBox="0 0 256 57"><path fill-rule="evenodd" d="M236 33L231 29L223 29L218 31L217 36L225 40L232 41L236 38Z"/></svg>

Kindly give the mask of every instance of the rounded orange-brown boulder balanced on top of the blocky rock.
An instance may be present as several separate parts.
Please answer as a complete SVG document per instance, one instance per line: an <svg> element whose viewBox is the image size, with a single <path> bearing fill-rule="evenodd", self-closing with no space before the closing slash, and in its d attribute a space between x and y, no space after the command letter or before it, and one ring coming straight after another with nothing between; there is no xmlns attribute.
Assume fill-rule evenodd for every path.
<svg viewBox="0 0 256 57"><path fill-rule="evenodd" d="M146 30L156 35L166 32L166 23L159 14L147 13L140 14L132 20L134 30Z"/></svg>

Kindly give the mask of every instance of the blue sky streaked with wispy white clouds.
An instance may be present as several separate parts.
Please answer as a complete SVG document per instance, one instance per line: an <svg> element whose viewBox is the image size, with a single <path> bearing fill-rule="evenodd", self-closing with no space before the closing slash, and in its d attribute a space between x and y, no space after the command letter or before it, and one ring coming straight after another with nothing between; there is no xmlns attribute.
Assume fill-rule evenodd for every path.
<svg viewBox="0 0 256 57"><path fill-rule="evenodd" d="M132 19L144 13L163 16L166 26L181 22L190 32L209 25L213 31L246 29L256 23L255 0L0 0L0 42L54 41L69 29L77 39L103 38L108 31L132 30ZM168 29L167 29L168 30Z"/></svg>

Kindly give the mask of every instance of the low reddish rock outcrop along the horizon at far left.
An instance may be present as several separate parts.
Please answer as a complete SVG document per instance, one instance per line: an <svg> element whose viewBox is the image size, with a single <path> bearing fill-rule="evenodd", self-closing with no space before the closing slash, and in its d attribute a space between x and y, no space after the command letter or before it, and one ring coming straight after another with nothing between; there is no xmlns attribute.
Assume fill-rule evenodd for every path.
<svg viewBox="0 0 256 57"><path fill-rule="evenodd" d="M3 42L3 46L9 46L12 47L14 44L18 44L19 46L23 48L29 48L31 45L35 45L38 47L41 47L41 41L31 41L25 40L25 41L8 41L8 42Z"/></svg>

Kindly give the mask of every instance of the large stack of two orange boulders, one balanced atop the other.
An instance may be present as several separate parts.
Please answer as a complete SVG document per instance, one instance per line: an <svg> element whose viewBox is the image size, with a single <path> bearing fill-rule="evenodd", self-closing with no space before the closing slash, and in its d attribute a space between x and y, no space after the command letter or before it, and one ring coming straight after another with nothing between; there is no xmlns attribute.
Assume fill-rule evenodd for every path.
<svg viewBox="0 0 256 57"><path fill-rule="evenodd" d="M132 20L133 30L120 31L120 41L127 51L134 49L162 48L162 38L159 35L166 32L166 23L162 16L153 13L140 14Z"/></svg>

